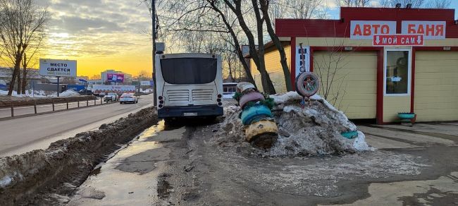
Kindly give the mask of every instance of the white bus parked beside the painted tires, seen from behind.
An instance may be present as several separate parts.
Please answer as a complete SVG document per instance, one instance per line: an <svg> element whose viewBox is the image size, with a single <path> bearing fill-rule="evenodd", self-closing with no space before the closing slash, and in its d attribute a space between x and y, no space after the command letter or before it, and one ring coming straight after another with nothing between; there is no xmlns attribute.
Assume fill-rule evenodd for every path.
<svg viewBox="0 0 458 206"><path fill-rule="evenodd" d="M159 118L223 115L221 56L157 54L155 60Z"/></svg>

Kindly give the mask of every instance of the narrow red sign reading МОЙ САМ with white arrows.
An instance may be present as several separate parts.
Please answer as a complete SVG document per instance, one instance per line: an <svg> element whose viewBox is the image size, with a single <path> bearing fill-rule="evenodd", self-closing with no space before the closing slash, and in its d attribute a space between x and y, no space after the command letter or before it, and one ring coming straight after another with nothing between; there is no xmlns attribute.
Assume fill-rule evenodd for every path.
<svg viewBox="0 0 458 206"><path fill-rule="evenodd" d="M423 46L423 35L373 35L373 46Z"/></svg>

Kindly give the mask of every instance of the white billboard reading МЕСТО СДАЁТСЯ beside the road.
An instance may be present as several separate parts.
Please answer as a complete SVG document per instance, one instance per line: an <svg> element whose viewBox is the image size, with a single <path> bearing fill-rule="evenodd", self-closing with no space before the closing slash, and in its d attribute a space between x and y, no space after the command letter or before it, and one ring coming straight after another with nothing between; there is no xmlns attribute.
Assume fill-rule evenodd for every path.
<svg viewBox="0 0 458 206"><path fill-rule="evenodd" d="M39 75L76 77L76 61L39 59Z"/></svg>

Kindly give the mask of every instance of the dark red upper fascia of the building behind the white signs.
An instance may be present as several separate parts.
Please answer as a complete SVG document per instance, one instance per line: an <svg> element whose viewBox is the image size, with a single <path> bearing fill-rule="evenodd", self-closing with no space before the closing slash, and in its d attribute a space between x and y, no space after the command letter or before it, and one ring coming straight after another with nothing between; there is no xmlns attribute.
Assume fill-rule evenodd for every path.
<svg viewBox="0 0 458 206"><path fill-rule="evenodd" d="M431 8L340 8L342 20L276 19L279 37L349 37L351 20L395 20L401 32L402 20L431 20L447 23L446 37L458 38L454 9Z"/></svg>

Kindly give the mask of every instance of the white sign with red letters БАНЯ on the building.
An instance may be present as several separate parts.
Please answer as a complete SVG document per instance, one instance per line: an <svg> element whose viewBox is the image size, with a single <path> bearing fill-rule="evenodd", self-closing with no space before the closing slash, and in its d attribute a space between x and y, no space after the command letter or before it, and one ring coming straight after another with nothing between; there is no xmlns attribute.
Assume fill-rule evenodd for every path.
<svg viewBox="0 0 458 206"><path fill-rule="evenodd" d="M402 21L402 34L424 35L425 40L444 40L445 29L445 21Z"/></svg>

